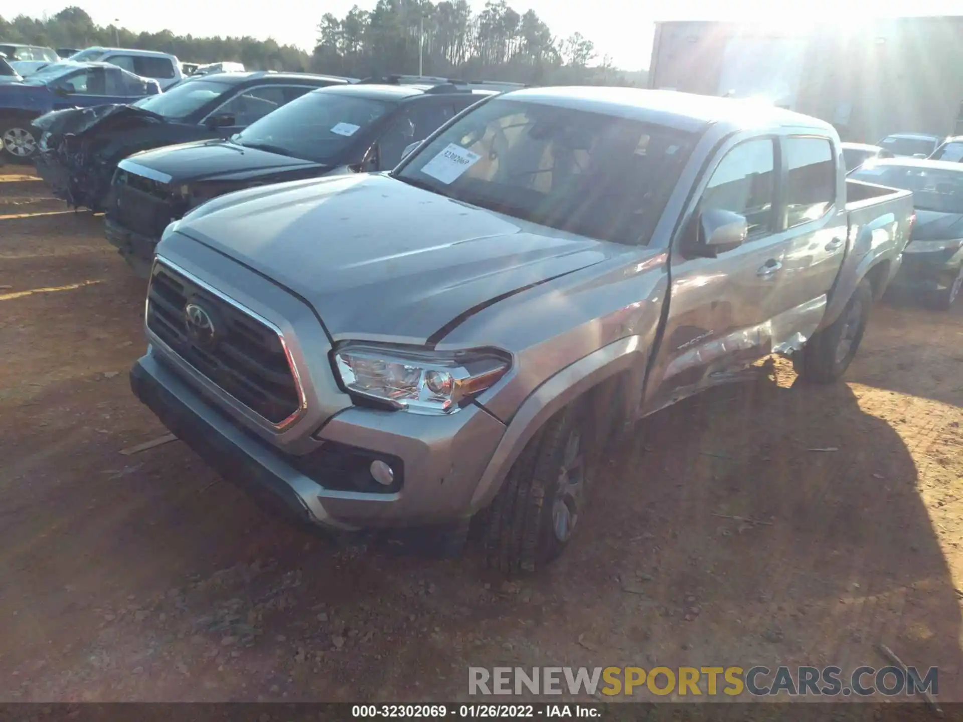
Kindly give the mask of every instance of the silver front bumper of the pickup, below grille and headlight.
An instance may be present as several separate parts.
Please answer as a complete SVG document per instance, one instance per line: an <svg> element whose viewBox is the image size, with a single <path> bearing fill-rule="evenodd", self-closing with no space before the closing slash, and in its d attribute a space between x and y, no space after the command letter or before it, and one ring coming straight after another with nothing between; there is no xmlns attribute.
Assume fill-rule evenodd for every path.
<svg viewBox="0 0 963 722"><path fill-rule="evenodd" d="M221 477L298 525L330 530L393 529L458 522L505 426L479 406L448 417L351 407L314 438L368 457L395 458L403 483L391 493L345 490L303 471L302 456L280 451L244 430L189 386L154 348L133 367L131 388ZM342 488L333 488L341 486Z"/></svg>

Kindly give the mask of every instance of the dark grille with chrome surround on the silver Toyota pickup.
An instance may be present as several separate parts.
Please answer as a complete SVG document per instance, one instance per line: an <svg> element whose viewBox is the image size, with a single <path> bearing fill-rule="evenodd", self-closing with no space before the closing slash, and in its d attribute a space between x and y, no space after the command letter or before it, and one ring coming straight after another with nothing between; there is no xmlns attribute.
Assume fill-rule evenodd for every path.
<svg viewBox="0 0 963 722"><path fill-rule="evenodd" d="M188 333L189 303L203 308L215 329L203 348ZM200 374L272 424L299 410L298 383L277 333L160 262L147 293L147 327Z"/></svg>

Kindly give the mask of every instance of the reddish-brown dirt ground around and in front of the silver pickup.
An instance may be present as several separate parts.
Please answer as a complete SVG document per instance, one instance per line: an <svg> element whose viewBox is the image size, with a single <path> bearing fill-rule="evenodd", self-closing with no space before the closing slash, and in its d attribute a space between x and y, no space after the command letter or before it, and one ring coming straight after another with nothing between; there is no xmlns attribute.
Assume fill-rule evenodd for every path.
<svg viewBox="0 0 963 722"><path fill-rule="evenodd" d="M508 583L289 529L179 442L121 455L165 432L127 380L144 284L25 173L0 170L0 700L453 701L469 666L882 643L963 701L963 307L877 306L846 383L777 361L647 420L568 553Z"/></svg>

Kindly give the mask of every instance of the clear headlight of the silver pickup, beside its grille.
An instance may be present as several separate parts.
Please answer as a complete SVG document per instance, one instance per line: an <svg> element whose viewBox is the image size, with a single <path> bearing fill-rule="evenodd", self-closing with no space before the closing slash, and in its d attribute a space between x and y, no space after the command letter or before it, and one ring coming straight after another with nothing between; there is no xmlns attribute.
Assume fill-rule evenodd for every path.
<svg viewBox="0 0 963 722"><path fill-rule="evenodd" d="M452 414L508 371L492 350L440 352L349 343L334 354L351 394L421 414Z"/></svg>

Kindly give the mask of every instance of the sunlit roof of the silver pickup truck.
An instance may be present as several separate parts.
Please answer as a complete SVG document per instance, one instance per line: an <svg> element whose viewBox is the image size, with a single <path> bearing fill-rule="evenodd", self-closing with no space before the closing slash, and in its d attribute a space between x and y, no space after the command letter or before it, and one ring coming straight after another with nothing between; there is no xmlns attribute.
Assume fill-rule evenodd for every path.
<svg viewBox="0 0 963 722"><path fill-rule="evenodd" d="M712 123L729 125L733 130L759 126L832 130L832 125L823 120L765 103L675 90L600 86L532 88L510 90L505 97L661 123L690 131L697 131Z"/></svg>

